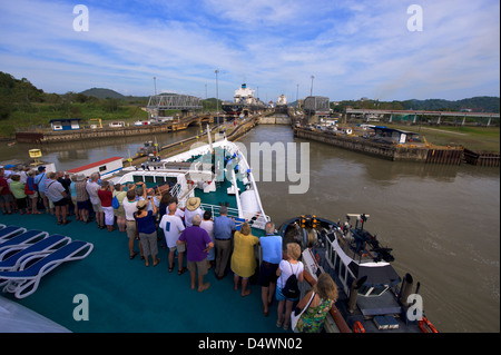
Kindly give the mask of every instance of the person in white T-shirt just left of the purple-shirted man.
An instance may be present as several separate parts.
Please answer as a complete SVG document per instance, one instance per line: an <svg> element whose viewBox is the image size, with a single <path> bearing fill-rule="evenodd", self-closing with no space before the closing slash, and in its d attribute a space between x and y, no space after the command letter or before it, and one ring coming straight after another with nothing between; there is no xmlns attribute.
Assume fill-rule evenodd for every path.
<svg viewBox="0 0 501 355"><path fill-rule="evenodd" d="M160 219L160 224L158 225L161 229L164 229L165 241L167 243L167 247L169 248L169 273L174 270L174 254L177 249L178 254L178 275L184 274L187 268L183 267L183 257L186 252L186 244L177 244L177 239L179 239L180 234L185 230L185 225L183 220L176 216L177 205L176 203L169 204L168 215L164 215Z"/></svg>

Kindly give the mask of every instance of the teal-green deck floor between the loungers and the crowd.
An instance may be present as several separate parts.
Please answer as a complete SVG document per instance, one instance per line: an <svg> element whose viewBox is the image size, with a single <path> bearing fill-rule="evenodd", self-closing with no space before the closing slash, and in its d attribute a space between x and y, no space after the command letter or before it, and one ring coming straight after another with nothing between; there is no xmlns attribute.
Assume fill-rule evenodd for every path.
<svg viewBox="0 0 501 355"><path fill-rule="evenodd" d="M145 267L139 256L129 260L125 233L108 233L94 221L85 225L70 219L69 225L58 226L51 215L0 216L0 224L63 234L95 245L86 259L62 264L45 276L31 296L21 300L10 294L4 297L72 332L283 332L275 326L276 300L269 316L263 316L258 285L250 285L253 293L243 298L233 290L230 274L217 280L210 269L205 278L210 288L191 290L189 273L168 273L167 249L159 248L158 266ZM77 294L89 299L89 321L73 319Z"/></svg>

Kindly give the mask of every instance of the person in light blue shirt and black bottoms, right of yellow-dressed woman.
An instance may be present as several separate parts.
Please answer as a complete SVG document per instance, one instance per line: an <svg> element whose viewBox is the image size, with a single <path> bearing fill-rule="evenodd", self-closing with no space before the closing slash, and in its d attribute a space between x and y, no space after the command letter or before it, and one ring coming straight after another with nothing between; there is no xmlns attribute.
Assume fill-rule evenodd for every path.
<svg viewBox="0 0 501 355"><path fill-rule="evenodd" d="M282 260L282 237L275 235L275 224L272 221L266 223L265 231L266 236L259 238L263 262L261 263L258 283L263 299L263 313L268 316L269 305L276 289L276 269Z"/></svg>

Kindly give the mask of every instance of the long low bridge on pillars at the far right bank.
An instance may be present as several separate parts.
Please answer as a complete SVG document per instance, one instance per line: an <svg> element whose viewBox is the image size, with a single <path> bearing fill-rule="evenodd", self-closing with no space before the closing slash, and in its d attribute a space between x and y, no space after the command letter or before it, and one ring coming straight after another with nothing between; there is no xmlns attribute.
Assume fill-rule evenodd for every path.
<svg viewBox="0 0 501 355"><path fill-rule="evenodd" d="M466 117L478 118L478 119L488 119L487 126L491 124L491 119L500 118L500 114L497 112L468 112L468 111L426 111L426 110L377 110L377 109L346 109L346 115L362 115L362 117L369 118L371 116L381 116L381 115L390 115L389 121L391 122L395 116L413 116L412 122L415 124L415 119L418 116L434 116L438 117L436 124L440 125L440 121L443 117L461 117L462 124L464 125Z"/></svg>

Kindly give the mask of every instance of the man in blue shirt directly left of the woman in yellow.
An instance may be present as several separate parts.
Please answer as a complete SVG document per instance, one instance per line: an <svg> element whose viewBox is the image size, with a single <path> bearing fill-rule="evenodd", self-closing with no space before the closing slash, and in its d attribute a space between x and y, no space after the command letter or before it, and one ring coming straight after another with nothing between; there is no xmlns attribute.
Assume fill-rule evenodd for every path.
<svg viewBox="0 0 501 355"><path fill-rule="evenodd" d="M232 237L235 231L235 220L227 216L228 208L219 207L219 217L214 218L214 241L216 245L216 278L225 276L226 265L232 253Z"/></svg>

